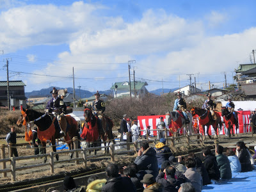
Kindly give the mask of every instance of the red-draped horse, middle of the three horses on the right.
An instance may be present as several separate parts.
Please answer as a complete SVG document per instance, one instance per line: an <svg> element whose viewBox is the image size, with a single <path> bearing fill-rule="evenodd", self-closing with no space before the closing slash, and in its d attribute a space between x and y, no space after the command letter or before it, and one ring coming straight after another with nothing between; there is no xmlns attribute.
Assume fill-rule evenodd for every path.
<svg viewBox="0 0 256 192"><path fill-rule="evenodd" d="M218 125L220 127L220 130L222 129L222 123L221 123L221 117L219 113L214 111L215 115L217 116L217 120L213 120L211 116L211 112L207 109L201 109L201 108L192 108L191 114L193 116L198 115L199 116L199 123L202 125L204 133L205 133L205 125L207 126L207 135L210 139L212 139L211 135L209 134L209 127L212 125L215 133L217 132ZM216 137L216 134L215 136ZM205 134L204 134L204 140L205 140Z"/></svg>

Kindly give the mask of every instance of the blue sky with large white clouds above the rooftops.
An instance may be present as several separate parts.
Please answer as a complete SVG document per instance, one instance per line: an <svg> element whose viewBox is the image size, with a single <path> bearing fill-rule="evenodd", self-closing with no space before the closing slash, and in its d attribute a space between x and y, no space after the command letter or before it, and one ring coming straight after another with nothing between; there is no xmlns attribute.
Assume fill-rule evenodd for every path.
<svg viewBox="0 0 256 192"><path fill-rule="evenodd" d="M147 81L148 90L189 84L222 88L256 49L256 1L0 0L0 81L26 92L49 86L95 92L115 82ZM1 52L0 52L1 53ZM133 81L133 76L132 76Z"/></svg>

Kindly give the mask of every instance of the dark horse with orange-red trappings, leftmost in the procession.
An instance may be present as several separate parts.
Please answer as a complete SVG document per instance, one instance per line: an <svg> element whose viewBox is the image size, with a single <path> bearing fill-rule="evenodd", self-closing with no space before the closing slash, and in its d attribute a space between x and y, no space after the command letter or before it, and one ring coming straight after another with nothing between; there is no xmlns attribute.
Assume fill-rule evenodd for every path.
<svg viewBox="0 0 256 192"><path fill-rule="evenodd" d="M26 122L29 124L33 123L38 127L37 136L38 139L42 142L43 145L43 153L46 154L46 141L50 140L52 143L52 150L56 152L55 141L59 138L58 131L56 131L56 124L58 124L56 118L52 118L48 113L40 113L33 109L22 109L22 119L17 121L17 125L20 125L23 122L23 125L26 125ZM69 126L67 127L67 123ZM64 126L66 125L66 127ZM77 136L80 140L80 135L77 130L77 122L76 120L69 115L62 116L60 119L60 127L62 131L66 134L64 136L64 140L68 141L68 148L71 150L74 148L72 144L72 138ZM79 145L78 145L79 146ZM72 158L73 153L70 153L70 158ZM56 160L59 160L58 154L56 154ZM44 163L46 163L47 158L45 157Z"/></svg>

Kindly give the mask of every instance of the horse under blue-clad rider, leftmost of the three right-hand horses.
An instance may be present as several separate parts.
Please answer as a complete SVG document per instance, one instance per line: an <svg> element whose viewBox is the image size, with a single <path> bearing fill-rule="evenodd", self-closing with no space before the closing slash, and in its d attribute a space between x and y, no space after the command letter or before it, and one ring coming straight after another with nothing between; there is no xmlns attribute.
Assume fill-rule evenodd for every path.
<svg viewBox="0 0 256 192"><path fill-rule="evenodd" d="M180 115L180 113L182 113L182 112L168 111L165 115L167 125L170 125L171 121L173 120L172 128L173 128L173 132L174 132L175 136L176 136L177 132L179 132L180 129L182 129L183 127L185 127L186 132L188 134L192 134L193 133L193 129L192 129L193 116L191 115L191 113L188 112L190 122L189 122L189 124L186 124L186 119L183 118Z"/></svg>

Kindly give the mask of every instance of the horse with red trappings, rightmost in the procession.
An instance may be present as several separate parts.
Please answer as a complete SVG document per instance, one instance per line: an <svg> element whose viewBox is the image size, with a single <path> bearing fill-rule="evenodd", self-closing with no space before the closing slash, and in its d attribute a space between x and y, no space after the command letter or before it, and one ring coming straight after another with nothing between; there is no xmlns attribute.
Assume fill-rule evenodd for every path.
<svg viewBox="0 0 256 192"><path fill-rule="evenodd" d="M221 116L223 116L224 123L228 129L228 138L231 137L231 131L232 131L232 136L234 136L233 125L236 125L236 134L237 134L237 129L239 129L239 124L236 124L236 120L233 112L228 111L226 107L221 107Z"/></svg>

